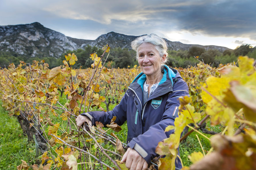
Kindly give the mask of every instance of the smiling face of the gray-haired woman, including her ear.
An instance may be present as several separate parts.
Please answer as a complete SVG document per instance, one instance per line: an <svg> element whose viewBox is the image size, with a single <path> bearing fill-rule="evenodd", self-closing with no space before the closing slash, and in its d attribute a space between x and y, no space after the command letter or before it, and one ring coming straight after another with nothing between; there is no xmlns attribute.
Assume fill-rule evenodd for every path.
<svg viewBox="0 0 256 170"><path fill-rule="evenodd" d="M138 62L142 72L150 77L159 75L161 72L161 61L164 61L166 55L160 56L156 46L150 43L142 43L138 47Z"/></svg>

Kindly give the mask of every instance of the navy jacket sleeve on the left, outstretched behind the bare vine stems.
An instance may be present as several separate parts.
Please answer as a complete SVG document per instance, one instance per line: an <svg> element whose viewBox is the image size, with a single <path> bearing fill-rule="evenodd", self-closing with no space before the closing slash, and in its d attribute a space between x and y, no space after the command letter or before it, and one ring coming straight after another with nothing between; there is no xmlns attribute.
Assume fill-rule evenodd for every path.
<svg viewBox="0 0 256 170"><path fill-rule="evenodd" d="M126 92L127 93L127 92ZM116 124L121 126L126 120L126 110L127 110L127 100L128 95L125 93L123 98L121 99L120 103L114 107L113 110L104 112L104 111L92 111L87 113L82 113L81 115L88 116L91 119L93 125L95 122L101 122L102 124L110 124L111 119L113 116L116 116Z"/></svg>

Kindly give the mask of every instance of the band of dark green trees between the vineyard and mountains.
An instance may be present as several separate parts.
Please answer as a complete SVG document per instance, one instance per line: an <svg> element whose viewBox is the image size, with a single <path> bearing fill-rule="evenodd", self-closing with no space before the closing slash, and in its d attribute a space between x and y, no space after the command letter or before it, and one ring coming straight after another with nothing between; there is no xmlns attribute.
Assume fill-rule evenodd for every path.
<svg viewBox="0 0 256 170"><path fill-rule="evenodd" d="M98 56L102 55L103 50L96 46L85 46L84 49L78 50L68 50L62 54L59 58L54 57L31 57L31 56L19 56L16 54L10 54L9 52L0 52L0 60L1 66L7 67L10 63L14 63L14 65L20 64L20 61L24 61L26 63L33 63L33 60L45 60L46 63L49 64L49 68L54 68L59 65L62 65L62 58L67 53L76 54L79 59L79 63L74 66L74 68L82 68L86 69L91 66L93 61L88 57L91 53L96 53ZM196 66L199 61L203 61L205 64L209 64L212 67L218 67L219 64L227 64L230 62L236 62L238 56L248 56L249 58L256 59L256 46L252 47L249 44L243 44L238 46L234 50L225 50L222 53L216 49L205 50L204 48L192 46L189 50L168 50L168 58L169 62L167 65L171 67L182 67L186 68L188 66ZM198 59L195 58L198 56ZM199 60L199 61L198 61ZM134 65L138 65L135 59L135 52L133 50L129 50L128 48L113 48L111 49L111 53L107 58L106 67L107 68L127 68L128 66L133 67Z"/></svg>

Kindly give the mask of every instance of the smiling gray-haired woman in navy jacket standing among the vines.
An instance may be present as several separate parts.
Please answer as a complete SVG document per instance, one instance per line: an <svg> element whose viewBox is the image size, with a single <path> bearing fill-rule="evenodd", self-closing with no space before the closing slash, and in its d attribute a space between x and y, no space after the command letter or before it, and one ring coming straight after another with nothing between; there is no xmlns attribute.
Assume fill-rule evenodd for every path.
<svg viewBox="0 0 256 170"><path fill-rule="evenodd" d="M163 65L167 61L167 45L156 34L136 38L131 46L137 52L142 73L137 75L128 87L119 105L109 112L88 112L79 115L77 126L85 121L95 124L100 121L109 124L112 117L122 125L127 120L127 143L129 148L122 162L128 169L147 169L158 142L169 137L164 132L168 125L174 125L178 116L179 97L189 96L188 85L177 70ZM181 168L179 159L175 166Z"/></svg>

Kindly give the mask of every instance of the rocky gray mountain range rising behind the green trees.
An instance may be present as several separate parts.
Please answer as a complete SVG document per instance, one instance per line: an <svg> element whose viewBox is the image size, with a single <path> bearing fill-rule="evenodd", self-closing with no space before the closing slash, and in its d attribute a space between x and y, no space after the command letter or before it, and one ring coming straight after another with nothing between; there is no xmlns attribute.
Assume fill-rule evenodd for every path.
<svg viewBox="0 0 256 170"><path fill-rule="evenodd" d="M102 48L110 44L111 48L121 47L131 49L131 41L138 36L128 36L116 32L102 34L96 40L83 40L67 37L64 34L44 27L39 22L31 24L19 24L0 26L0 51L10 52L15 55L31 57L52 56L60 57L67 50L84 48L88 44ZM197 44L183 44L165 39L169 50L188 50L191 46L209 49L217 49L220 52L229 48L221 46L202 46Z"/></svg>

